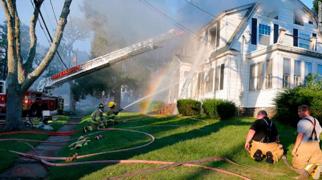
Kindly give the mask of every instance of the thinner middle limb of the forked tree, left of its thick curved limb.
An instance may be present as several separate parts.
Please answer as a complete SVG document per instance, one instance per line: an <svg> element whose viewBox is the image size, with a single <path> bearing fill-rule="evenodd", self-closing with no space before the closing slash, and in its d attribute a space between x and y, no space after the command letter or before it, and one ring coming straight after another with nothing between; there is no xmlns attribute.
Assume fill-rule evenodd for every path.
<svg viewBox="0 0 322 180"><path fill-rule="evenodd" d="M36 55L36 46L37 46L37 36L35 33L36 23L39 16L39 9L40 6L43 4L44 0L38 0L35 2L35 8L33 11L33 16L30 19L30 28L29 28L29 35L30 35L30 47L27 61L24 63L25 72L28 73L30 68L33 66L33 59ZM25 74L27 76L27 74Z"/></svg>

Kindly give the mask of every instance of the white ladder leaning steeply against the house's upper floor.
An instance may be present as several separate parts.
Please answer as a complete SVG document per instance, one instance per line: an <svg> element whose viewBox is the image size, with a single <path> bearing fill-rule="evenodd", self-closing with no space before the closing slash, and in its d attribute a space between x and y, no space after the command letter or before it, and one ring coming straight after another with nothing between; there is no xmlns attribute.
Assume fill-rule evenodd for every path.
<svg viewBox="0 0 322 180"><path fill-rule="evenodd" d="M197 52L197 56L192 64L189 74L188 74L188 76L181 88L178 100L185 97L185 94L187 93L187 90L189 88L189 84L191 83L192 78L194 77L194 72L203 64L201 61L204 58L204 55L207 54L207 53L205 53L205 46L207 44L207 39L208 39L208 36L205 36L205 38L202 41L202 45ZM210 70L210 68L209 68L209 70ZM209 72L209 70L208 70L208 72ZM206 75L205 75L205 77L206 77ZM173 111L173 115L176 115L177 112L178 112L178 108L176 107L175 110Z"/></svg>

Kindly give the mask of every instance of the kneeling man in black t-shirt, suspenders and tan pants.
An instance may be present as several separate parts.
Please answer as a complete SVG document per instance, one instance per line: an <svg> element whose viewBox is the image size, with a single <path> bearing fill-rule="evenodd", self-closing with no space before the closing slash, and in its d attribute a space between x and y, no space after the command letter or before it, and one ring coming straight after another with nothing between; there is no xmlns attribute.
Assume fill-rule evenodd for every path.
<svg viewBox="0 0 322 180"><path fill-rule="evenodd" d="M255 161L261 161L266 155L267 163L276 163L283 155L283 146L279 144L276 126L267 117L267 112L264 110L258 112L257 118L249 128L245 149L251 153L251 157Z"/></svg>

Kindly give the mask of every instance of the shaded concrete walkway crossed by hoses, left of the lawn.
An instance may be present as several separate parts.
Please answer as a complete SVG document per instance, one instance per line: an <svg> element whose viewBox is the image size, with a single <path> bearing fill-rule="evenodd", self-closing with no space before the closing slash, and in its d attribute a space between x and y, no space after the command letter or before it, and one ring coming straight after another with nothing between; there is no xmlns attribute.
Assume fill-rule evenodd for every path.
<svg viewBox="0 0 322 180"><path fill-rule="evenodd" d="M68 123L79 123L80 118L71 118ZM57 132L73 131L76 125L63 125ZM69 136L50 136L46 141L64 141L68 140ZM67 144L68 143L68 144ZM40 156L57 156L59 150L69 145L72 142L64 142L57 144L40 143L35 147ZM27 152L28 154L35 154L33 150ZM14 166L0 174L0 180L5 179L45 179L49 167L36 159L29 159L20 157L15 161Z"/></svg>

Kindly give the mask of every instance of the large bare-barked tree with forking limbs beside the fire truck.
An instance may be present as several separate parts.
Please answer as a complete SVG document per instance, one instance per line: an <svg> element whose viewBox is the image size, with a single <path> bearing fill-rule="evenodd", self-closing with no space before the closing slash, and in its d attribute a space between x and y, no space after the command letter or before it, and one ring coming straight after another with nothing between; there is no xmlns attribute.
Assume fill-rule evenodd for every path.
<svg viewBox="0 0 322 180"><path fill-rule="evenodd" d="M6 104L6 126L7 130L22 129L22 100L24 93L34 81L45 71L52 61L67 23L67 16L72 0L65 0L62 13L58 22L53 43L49 48L43 61L29 73L36 54L37 37L35 27L38 20L39 10L44 0L34 0L35 8L30 20L30 48L27 58L21 56L20 41L20 19L17 12L15 0L1 0L7 21L8 40L8 100Z"/></svg>

